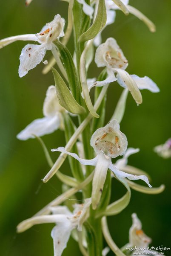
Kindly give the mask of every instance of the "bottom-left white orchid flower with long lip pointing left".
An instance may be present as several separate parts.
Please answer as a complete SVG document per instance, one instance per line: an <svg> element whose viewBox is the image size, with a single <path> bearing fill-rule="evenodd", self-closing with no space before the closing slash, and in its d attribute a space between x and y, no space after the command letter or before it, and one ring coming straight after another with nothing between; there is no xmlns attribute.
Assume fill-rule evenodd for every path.
<svg viewBox="0 0 171 256"><path fill-rule="evenodd" d="M17 232L23 232L35 224L56 223L51 231L54 241L54 256L61 256L66 248L71 231L82 230L83 223L89 217L91 198L85 199L84 204L75 204L74 212L70 212L66 206L51 207L51 215L40 215L22 221L17 226Z"/></svg>

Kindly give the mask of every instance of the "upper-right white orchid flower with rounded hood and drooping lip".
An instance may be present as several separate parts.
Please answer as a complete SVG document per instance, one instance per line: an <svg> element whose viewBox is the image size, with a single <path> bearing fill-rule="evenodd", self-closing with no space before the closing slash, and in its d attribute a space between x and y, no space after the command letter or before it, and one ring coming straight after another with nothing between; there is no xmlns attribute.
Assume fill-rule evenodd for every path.
<svg viewBox="0 0 171 256"><path fill-rule="evenodd" d="M153 93L160 91L157 84L149 77L140 78L136 75L129 75L125 71L128 67L128 61L114 38L108 38L105 43L97 48L95 62L97 67L106 67L107 78L103 81L94 82L94 86L103 86L117 81L122 87L128 88L137 104L142 103L140 90L148 89ZM115 76L115 73L117 73L117 76Z"/></svg>

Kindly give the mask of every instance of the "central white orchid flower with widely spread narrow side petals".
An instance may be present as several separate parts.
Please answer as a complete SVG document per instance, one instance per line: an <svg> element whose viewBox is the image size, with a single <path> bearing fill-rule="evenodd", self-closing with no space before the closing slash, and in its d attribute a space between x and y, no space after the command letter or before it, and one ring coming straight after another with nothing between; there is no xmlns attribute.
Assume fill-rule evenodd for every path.
<svg viewBox="0 0 171 256"><path fill-rule="evenodd" d="M127 138L125 134L120 131L120 125L117 120L112 120L105 127L97 129L91 137L90 144L97 154L95 158L90 160L82 159L78 157L77 154L66 151L63 147L51 149L51 151L64 152L77 159L83 165L96 166L91 194L93 209L97 208L100 201L108 169L110 169L116 177L127 177L130 180L141 179L151 187L145 175L137 176L127 174L120 171L112 164L111 158L124 155L128 145Z"/></svg>

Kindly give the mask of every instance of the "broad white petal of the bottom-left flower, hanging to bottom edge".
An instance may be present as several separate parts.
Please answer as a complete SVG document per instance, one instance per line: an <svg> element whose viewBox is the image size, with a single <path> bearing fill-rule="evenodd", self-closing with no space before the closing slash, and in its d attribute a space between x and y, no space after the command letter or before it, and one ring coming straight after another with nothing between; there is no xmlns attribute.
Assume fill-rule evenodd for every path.
<svg viewBox="0 0 171 256"><path fill-rule="evenodd" d="M72 229L73 227L68 221L66 221L66 223L57 224L57 226L52 229L51 237L54 242L54 256L62 255L63 250L66 248Z"/></svg>

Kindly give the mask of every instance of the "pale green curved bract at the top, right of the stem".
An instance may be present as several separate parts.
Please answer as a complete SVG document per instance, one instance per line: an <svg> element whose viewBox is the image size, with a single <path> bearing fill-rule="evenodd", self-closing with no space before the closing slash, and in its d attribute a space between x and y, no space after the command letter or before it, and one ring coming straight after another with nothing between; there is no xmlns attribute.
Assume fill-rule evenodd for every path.
<svg viewBox="0 0 171 256"><path fill-rule="evenodd" d="M91 27L85 31L79 38L80 42L85 42L95 38L95 36L103 29L107 20L105 0L100 0L96 18Z"/></svg>

